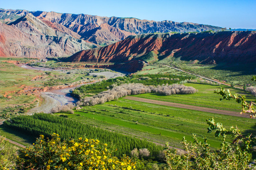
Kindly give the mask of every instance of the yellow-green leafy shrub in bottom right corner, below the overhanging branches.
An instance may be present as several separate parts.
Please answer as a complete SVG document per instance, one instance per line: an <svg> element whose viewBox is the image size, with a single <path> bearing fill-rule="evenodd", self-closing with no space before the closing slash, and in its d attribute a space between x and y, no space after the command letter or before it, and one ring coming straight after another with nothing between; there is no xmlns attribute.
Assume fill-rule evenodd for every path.
<svg viewBox="0 0 256 170"><path fill-rule="evenodd" d="M194 135L193 142L183 139L186 156L176 154L168 149L166 144L165 156L169 170L249 170L252 154L242 150L239 145L232 145L223 138L220 149L213 151L207 139L200 142Z"/></svg>

